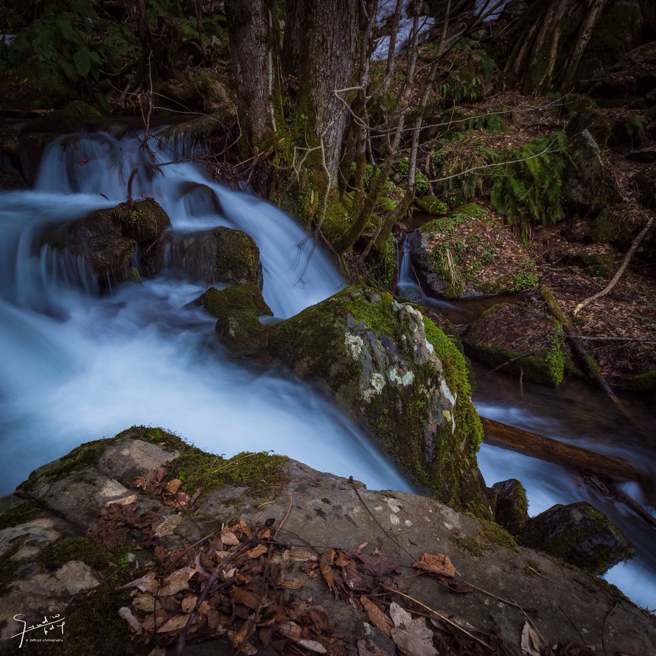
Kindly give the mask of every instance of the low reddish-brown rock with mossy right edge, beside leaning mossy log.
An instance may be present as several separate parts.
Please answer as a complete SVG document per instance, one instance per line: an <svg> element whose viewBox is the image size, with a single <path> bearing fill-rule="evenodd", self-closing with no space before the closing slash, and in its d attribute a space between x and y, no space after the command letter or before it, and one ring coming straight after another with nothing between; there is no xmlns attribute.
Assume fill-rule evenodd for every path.
<svg viewBox="0 0 656 656"><path fill-rule="evenodd" d="M540 302L499 303L474 321L462 342L470 357L500 371L558 387L565 371L562 325Z"/></svg>

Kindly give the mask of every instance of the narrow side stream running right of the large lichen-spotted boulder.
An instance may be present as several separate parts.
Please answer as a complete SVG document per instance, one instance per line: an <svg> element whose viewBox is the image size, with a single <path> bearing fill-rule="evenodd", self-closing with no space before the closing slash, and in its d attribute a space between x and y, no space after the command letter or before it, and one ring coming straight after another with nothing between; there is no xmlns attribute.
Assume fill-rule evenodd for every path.
<svg viewBox="0 0 656 656"><path fill-rule="evenodd" d="M398 281L398 293L407 300L420 298L453 323L469 323L495 302L513 302L513 297L473 297L453 302L425 295L410 264L409 244L410 237L405 236ZM654 396L623 396L623 404L635 423L632 425L603 392L578 380L566 379L554 390L531 382L520 385L517 379L477 366L476 382L474 403L483 417L625 459L636 469L656 475ZM642 430L637 430L636 425ZM483 444L478 464L487 485L519 478L529 497L531 516L556 503L577 501L588 501L607 514L636 546L636 558L616 565L604 578L637 604L656 607L656 529L624 504L613 502L586 485L577 472L550 462ZM656 516L655 508L644 499L636 483L623 483L621 488Z"/></svg>

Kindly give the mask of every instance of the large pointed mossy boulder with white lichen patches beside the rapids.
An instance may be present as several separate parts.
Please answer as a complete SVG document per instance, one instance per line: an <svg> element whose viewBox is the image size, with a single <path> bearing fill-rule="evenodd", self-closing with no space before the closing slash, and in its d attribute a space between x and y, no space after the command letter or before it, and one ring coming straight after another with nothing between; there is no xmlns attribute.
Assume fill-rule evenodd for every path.
<svg viewBox="0 0 656 656"><path fill-rule="evenodd" d="M465 360L418 310L354 285L277 323L269 352L330 390L437 499L489 514Z"/></svg>

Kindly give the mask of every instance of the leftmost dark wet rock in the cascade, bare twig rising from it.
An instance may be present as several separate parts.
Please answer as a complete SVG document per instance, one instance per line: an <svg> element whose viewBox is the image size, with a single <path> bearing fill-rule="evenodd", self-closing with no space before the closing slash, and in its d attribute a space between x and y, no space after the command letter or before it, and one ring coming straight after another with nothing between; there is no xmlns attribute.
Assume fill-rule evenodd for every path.
<svg viewBox="0 0 656 656"><path fill-rule="evenodd" d="M60 224L46 241L84 258L101 288L138 279L134 268L139 245L150 245L171 224L165 211L149 198L98 209Z"/></svg>

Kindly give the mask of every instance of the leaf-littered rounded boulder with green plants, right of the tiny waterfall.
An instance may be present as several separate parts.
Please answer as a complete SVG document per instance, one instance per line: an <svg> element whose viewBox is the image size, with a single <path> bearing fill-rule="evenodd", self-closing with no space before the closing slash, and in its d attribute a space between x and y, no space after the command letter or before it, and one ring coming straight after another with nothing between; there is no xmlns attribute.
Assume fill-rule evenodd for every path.
<svg viewBox="0 0 656 656"><path fill-rule="evenodd" d="M424 223L410 246L417 274L437 297L516 292L537 283L535 263L520 239L501 216L477 203Z"/></svg>

